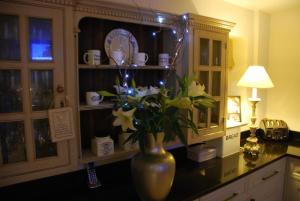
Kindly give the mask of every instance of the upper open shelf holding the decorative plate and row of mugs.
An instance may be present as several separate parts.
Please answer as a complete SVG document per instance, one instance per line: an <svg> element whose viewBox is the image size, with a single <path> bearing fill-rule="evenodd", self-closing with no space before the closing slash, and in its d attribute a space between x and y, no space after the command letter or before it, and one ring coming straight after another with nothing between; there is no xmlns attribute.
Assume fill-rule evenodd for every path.
<svg viewBox="0 0 300 201"><path fill-rule="evenodd" d="M174 70L174 68L165 68L163 66L147 65L147 66L114 66L114 65L98 65L91 66L86 64L78 64L79 69L97 69L97 70L116 70L116 69L130 69L130 70Z"/></svg>

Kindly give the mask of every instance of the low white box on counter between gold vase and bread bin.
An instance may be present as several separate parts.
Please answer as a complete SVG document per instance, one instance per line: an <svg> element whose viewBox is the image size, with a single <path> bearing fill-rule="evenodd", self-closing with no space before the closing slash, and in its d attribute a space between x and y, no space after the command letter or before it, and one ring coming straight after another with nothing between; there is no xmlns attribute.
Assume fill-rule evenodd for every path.
<svg viewBox="0 0 300 201"><path fill-rule="evenodd" d="M196 162L210 160L216 156L216 148L206 145L193 146L187 151L187 157Z"/></svg>

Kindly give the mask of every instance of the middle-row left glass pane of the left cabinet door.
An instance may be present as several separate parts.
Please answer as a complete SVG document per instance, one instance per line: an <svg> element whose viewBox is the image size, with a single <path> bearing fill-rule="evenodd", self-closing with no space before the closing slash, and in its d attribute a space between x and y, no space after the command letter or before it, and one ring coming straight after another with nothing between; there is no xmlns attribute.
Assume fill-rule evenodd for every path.
<svg viewBox="0 0 300 201"><path fill-rule="evenodd" d="M0 70L0 113L22 112L20 70Z"/></svg>

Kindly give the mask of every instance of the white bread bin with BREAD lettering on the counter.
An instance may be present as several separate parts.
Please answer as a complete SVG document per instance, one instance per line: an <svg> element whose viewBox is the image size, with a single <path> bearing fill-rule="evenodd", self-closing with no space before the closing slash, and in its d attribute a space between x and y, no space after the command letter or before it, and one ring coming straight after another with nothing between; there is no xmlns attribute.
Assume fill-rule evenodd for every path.
<svg viewBox="0 0 300 201"><path fill-rule="evenodd" d="M217 148L217 156L224 158L240 151L240 140L241 140L241 126L239 124L233 127L227 127L226 135L207 141L206 144L215 146Z"/></svg>

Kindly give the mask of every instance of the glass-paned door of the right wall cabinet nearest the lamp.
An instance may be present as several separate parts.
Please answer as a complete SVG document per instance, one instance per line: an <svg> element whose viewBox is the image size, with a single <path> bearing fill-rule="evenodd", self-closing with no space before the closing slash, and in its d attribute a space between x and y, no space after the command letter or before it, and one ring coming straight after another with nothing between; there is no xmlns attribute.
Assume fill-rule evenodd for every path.
<svg viewBox="0 0 300 201"><path fill-rule="evenodd" d="M224 134L225 66L227 34L194 31L193 73L205 91L215 100L215 107L194 111L199 135L189 135L189 143L197 143Z"/></svg>

